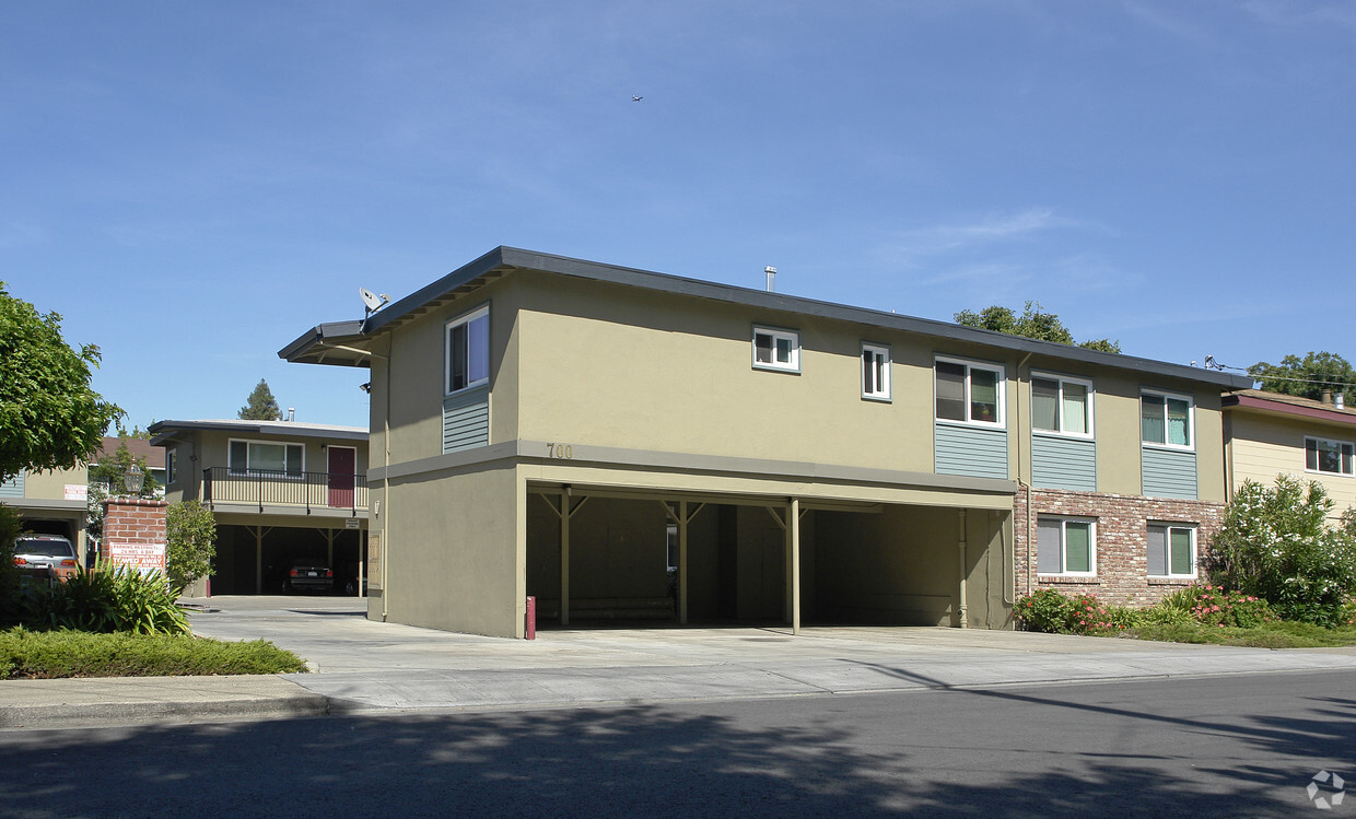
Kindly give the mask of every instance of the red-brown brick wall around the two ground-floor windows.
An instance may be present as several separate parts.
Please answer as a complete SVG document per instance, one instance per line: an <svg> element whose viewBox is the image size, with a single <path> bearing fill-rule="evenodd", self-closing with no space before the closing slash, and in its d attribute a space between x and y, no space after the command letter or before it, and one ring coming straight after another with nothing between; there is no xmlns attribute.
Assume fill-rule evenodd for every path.
<svg viewBox="0 0 1356 819"><path fill-rule="evenodd" d="M1151 605L1192 582L1149 576L1149 522L1196 525L1196 574L1199 580L1204 580L1203 559L1224 517L1223 503L1063 490L1032 490L1031 507L1028 540L1026 491L1018 491L1013 508L1017 594L1029 594L1033 587L1058 588L1064 594L1096 594L1102 602L1116 605ZM1063 578L1028 572L1028 567L1036 568L1036 519L1043 514L1097 521L1097 576Z"/></svg>

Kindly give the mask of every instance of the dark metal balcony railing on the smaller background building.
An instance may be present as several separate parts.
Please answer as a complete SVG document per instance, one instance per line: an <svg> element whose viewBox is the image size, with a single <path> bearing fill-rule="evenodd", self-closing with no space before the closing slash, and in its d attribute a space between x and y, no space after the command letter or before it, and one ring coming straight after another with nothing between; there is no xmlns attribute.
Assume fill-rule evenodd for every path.
<svg viewBox="0 0 1356 819"><path fill-rule="evenodd" d="M347 508L358 517L367 508L367 476L335 472L240 472L228 466L202 471L202 502L252 503L263 511L268 506L313 508Z"/></svg>

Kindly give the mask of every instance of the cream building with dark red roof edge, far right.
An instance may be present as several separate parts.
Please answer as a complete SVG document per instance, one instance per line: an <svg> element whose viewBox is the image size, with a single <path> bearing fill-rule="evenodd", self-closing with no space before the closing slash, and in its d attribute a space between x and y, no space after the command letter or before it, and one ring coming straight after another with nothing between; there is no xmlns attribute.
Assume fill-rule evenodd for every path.
<svg viewBox="0 0 1356 819"><path fill-rule="evenodd" d="M1356 410L1260 389L1226 395L1223 408L1230 492L1290 473L1328 488L1334 522L1356 506Z"/></svg>

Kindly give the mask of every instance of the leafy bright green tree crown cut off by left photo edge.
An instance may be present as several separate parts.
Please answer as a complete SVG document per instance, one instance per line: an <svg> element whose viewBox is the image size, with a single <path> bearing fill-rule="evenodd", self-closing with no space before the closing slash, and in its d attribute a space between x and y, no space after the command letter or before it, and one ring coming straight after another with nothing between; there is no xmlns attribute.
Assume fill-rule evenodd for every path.
<svg viewBox="0 0 1356 819"><path fill-rule="evenodd" d="M0 282L0 480L88 461L122 415L89 386L99 347L72 350L61 316L39 313Z"/></svg>

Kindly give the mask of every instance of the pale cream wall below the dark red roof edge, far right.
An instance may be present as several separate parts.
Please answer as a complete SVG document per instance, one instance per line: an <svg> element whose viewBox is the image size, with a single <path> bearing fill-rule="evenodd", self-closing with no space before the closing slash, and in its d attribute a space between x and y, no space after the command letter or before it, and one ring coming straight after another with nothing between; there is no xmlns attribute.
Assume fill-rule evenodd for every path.
<svg viewBox="0 0 1356 819"><path fill-rule="evenodd" d="M1230 410L1227 415L1231 490L1241 487L1246 479L1271 485L1277 475L1288 473L1323 484L1334 502L1332 514L1334 519L1347 508L1356 507L1356 477L1310 472L1304 468L1304 437L1353 441L1356 430L1351 426L1237 410Z"/></svg>

